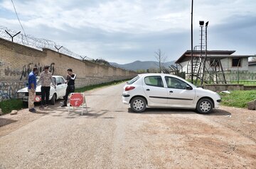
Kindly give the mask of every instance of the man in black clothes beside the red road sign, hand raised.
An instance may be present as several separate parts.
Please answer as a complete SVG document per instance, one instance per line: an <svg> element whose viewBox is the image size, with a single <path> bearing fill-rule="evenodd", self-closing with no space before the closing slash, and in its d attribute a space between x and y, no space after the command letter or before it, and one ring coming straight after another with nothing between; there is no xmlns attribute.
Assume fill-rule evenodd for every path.
<svg viewBox="0 0 256 169"><path fill-rule="evenodd" d="M76 78L76 74L73 74L72 69L68 69L68 75L67 75L68 86L67 86L65 97L64 97L64 104L61 107L67 106L68 95L70 93L74 93L75 91L75 78Z"/></svg>

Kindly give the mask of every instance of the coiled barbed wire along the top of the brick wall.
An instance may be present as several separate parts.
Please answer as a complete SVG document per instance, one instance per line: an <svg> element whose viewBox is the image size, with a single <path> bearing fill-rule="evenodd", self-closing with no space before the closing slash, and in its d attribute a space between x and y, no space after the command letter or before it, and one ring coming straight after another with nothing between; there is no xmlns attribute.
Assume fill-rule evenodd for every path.
<svg viewBox="0 0 256 169"><path fill-rule="evenodd" d="M6 27L0 25L0 37L5 40L10 40L10 41L13 40L14 42L16 42L18 44L32 47L34 49L39 49L39 50L42 50L43 48L52 49L54 51L58 50L58 52L60 52L62 54L66 54L70 57L74 57L76 59L93 60L90 57L76 54L75 52L70 51L70 49L68 49L66 47L57 45L52 40L37 38L37 37L33 37L32 35L23 35L22 33L18 33L14 38L12 38L10 35L8 35L8 33L6 33L6 31L12 36L14 36L18 33L18 31L16 31L16 30L11 30L9 28L6 28ZM56 49L56 47L58 49Z"/></svg>

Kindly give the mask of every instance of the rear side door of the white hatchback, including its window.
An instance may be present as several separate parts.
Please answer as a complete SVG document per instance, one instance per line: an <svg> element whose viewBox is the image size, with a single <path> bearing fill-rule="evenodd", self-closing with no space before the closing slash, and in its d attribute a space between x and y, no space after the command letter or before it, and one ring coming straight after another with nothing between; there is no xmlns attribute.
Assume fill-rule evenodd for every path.
<svg viewBox="0 0 256 169"><path fill-rule="evenodd" d="M143 90L146 94L149 106L166 105L167 104L167 89L164 88L163 79L161 76L146 76L143 81Z"/></svg>

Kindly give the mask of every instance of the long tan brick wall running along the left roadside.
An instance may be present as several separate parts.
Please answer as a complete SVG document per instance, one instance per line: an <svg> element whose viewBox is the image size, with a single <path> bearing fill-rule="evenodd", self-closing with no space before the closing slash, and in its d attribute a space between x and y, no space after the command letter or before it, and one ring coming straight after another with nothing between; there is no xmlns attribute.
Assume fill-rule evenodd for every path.
<svg viewBox="0 0 256 169"><path fill-rule="evenodd" d="M66 76L67 69L73 69L78 78L76 88L114 80L133 78L134 71L82 62L79 59L60 54L50 49L33 49L0 38L0 101L14 98L16 91L26 86L28 74L37 66L39 71L49 65L53 75Z"/></svg>

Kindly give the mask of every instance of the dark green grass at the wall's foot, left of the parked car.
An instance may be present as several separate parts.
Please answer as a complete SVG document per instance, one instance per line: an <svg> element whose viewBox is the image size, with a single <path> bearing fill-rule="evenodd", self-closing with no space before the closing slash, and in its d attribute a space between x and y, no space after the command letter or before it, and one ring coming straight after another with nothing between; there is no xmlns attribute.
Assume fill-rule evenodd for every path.
<svg viewBox="0 0 256 169"><path fill-rule="evenodd" d="M0 102L0 108L4 114L11 112L11 110L21 110L23 103L21 99L9 99Z"/></svg>

